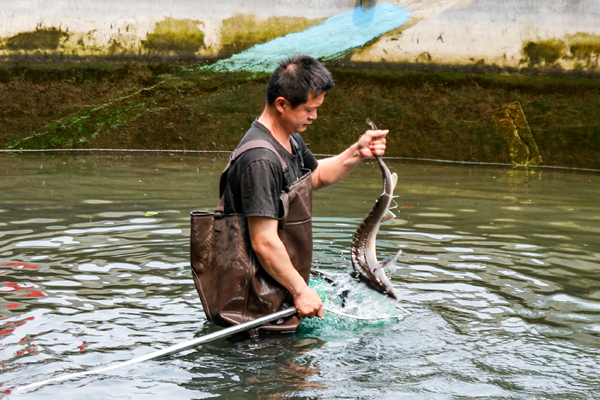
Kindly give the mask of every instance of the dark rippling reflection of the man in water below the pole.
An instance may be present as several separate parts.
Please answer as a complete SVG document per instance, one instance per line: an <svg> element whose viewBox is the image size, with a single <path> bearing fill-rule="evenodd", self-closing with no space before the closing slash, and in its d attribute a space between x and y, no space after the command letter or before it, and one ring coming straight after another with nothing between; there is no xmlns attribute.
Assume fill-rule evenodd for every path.
<svg viewBox="0 0 600 400"><path fill-rule="evenodd" d="M311 355L321 344L318 338L293 335L267 334L260 339L240 336L173 356L169 362L193 374L183 383L190 391L211 388L212 395L223 398L279 399L323 387L314 381L320 368Z"/></svg>

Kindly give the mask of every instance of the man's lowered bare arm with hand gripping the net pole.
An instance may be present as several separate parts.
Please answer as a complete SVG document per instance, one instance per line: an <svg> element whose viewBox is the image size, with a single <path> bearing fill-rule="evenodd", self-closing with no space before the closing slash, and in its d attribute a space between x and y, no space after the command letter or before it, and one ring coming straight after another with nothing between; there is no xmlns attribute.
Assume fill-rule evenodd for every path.
<svg viewBox="0 0 600 400"><path fill-rule="evenodd" d="M265 271L285 287L301 317L323 317L323 302L300 276L277 234L279 222L268 217L248 217L250 241Z"/></svg>

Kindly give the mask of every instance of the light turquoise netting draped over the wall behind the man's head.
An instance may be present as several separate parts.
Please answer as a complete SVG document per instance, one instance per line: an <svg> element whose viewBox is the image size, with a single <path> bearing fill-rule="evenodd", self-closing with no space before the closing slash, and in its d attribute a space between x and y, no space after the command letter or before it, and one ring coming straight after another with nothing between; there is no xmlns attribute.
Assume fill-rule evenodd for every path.
<svg viewBox="0 0 600 400"><path fill-rule="evenodd" d="M335 15L305 31L256 45L206 67L213 71L272 72L279 62L295 54L334 60L406 23L411 11L393 3Z"/></svg>

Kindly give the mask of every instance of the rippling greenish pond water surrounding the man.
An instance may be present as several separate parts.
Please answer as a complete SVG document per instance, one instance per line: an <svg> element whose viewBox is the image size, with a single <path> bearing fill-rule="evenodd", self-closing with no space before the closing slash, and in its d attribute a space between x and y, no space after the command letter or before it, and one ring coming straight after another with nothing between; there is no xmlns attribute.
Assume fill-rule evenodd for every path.
<svg viewBox="0 0 600 400"><path fill-rule="evenodd" d="M189 212L217 202L221 155L0 155L0 391L31 399L590 399L600 396L600 175L408 163L378 257L403 320L327 314L104 374L218 330L188 266ZM314 267L348 281L381 193L363 163L314 197ZM362 312L387 298L348 281ZM362 299L362 300L361 300ZM9 394L11 393L11 394ZM0 394L2 396L2 394Z"/></svg>

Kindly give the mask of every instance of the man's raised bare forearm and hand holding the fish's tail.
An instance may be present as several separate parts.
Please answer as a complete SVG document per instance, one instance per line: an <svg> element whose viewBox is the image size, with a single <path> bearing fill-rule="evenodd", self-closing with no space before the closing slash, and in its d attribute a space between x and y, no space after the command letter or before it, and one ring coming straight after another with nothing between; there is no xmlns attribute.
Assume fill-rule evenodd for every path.
<svg viewBox="0 0 600 400"><path fill-rule="evenodd" d="M334 157L318 161L312 173L314 190L326 188L344 179L365 158L382 156L385 153L387 130L368 130L358 142Z"/></svg>

